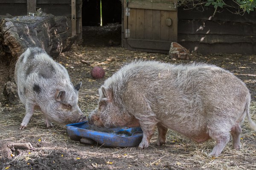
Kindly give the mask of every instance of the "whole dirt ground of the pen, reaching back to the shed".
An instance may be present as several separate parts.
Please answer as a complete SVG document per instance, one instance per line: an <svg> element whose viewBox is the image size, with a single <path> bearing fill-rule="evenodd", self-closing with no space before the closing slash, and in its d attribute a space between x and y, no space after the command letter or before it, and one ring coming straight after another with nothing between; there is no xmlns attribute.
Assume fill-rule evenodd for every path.
<svg viewBox="0 0 256 170"><path fill-rule="evenodd" d="M104 40L102 35L99 35L84 34L82 45L73 45L71 51L64 52L56 58L56 61L67 68L73 84L82 82L79 90L79 106L85 115L96 107L99 98L98 88L105 79L111 77L125 62L148 59L169 63L207 62L233 72L250 89L252 96L250 113L256 122L256 56L194 54L192 59L174 60L167 54L128 51L118 45L120 40L118 38L113 39L118 46L109 46L108 41L113 37L113 33L106 35ZM86 61L87 64L81 60ZM103 79L93 79L90 76L93 66L101 66L105 69L106 74ZM54 124L54 128L46 129L40 112L32 116L25 130L19 130L25 107L19 102L11 104L1 102L0 170L255 170L256 168L256 132L248 127L247 119L242 125L241 150L232 149L231 139L221 156L212 158L208 154L215 145L213 140L197 144L171 130L168 132L166 145L158 147L155 144L156 131L150 146L145 150L137 150L137 147L104 147L99 144L73 141L63 125ZM7 147L10 143L28 142L33 147L30 150ZM144 157L141 158L140 154L144 154Z"/></svg>

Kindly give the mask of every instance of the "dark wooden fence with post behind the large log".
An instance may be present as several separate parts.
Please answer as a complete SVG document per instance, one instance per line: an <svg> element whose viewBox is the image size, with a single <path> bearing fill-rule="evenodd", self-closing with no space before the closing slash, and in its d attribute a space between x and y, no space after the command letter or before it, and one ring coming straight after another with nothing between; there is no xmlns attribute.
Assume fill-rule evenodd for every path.
<svg viewBox="0 0 256 170"><path fill-rule="evenodd" d="M0 0L0 15L27 15L41 8L44 13L66 16L70 19L70 36L82 38L82 0Z"/></svg>

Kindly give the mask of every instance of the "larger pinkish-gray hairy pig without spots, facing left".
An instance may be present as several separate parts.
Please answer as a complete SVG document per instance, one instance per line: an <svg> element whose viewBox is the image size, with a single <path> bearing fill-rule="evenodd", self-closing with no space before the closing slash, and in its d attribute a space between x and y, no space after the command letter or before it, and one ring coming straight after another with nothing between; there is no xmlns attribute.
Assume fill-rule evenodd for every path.
<svg viewBox="0 0 256 170"><path fill-rule="evenodd" d="M157 145L166 143L168 129L196 141L214 139L210 153L218 156L233 137L240 149L241 123L249 115L250 93L229 71L214 65L172 65L135 61L123 66L99 88L98 107L90 113L97 126L141 126L140 149L148 147L155 127Z"/></svg>

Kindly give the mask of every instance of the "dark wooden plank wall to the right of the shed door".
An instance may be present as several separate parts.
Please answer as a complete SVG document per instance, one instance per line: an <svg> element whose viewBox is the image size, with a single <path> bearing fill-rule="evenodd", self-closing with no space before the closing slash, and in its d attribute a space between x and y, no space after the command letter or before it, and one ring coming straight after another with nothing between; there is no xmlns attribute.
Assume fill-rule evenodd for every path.
<svg viewBox="0 0 256 170"><path fill-rule="evenodd" d="M256 54L256 11L244 16L178 8L178 42L201 54Z"/></svg>

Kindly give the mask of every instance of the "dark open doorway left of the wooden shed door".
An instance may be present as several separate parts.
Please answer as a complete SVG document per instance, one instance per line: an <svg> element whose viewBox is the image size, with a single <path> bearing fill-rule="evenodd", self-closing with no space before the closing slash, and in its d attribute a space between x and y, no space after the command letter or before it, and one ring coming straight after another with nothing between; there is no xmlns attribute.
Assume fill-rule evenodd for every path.
<svg viewBox="0 0 256 170"><path fill-rule="evenodd" d="M83 45L121 45L121 23L121 0L83 0Z"/></svg>

